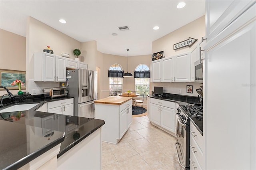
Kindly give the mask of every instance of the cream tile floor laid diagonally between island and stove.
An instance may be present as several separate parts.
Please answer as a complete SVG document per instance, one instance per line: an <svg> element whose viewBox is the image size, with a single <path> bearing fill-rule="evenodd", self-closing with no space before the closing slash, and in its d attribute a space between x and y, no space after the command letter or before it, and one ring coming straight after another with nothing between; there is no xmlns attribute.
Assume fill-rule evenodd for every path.
<svg viewBox="0 0 256 170"><path fill-rule="evenodd" d="M181 170L176 138L151 125L147 116L133 117L118 144L102 142L102 170Z"/></svg>

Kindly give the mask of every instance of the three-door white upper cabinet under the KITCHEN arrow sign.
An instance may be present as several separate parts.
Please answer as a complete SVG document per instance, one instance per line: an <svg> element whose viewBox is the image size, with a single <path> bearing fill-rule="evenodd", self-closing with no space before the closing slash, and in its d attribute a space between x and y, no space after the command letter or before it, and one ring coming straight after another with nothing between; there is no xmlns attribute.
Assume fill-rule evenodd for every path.
<svg viewBox="0 0 256 170"><path fill-rule="evenodd" d="M152 61L152 82L190 82L190 52Z"/></svg>

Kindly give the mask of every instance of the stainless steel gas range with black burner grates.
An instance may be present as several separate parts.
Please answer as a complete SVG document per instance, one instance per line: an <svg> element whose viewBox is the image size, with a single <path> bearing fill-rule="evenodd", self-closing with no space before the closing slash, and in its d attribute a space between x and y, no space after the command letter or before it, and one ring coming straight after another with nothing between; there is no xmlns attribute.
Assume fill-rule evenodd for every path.
<svg viewBox="0 0 256 170"><path fill-rule="evenodd" d="M180 105L176 113L176 154L178 162L189 170L189 157L190 157L190 121L194 121L199 128L203 124L203 108L202 105L189 104ZM202 130L202 129L201 129Z"/></svg>

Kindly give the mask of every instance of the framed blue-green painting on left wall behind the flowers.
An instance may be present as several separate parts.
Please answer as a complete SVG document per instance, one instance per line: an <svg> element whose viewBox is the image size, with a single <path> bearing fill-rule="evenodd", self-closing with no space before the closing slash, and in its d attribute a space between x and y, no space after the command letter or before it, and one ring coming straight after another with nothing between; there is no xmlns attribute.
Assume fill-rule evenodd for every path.
<svg viewBox="0 0 256 170"><path fill-rule="evenodd" d="M16 79L24 83L21 89L26 89L26 71L0 69L0 86L5 86L9 90L18 90L18 85L11 85ZM4 89L0 88L0 90Z"/></svg>

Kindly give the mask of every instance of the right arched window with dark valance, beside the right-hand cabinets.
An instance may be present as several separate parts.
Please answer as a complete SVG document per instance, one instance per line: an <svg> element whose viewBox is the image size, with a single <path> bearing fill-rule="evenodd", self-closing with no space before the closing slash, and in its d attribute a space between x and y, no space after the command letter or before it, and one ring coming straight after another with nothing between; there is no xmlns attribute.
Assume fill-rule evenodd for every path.
<svg viewBox="0 0 256 170"><path fill-rule="evenodd" d="M140 96L143 96L149 94L149 82L150 82L150 71L146 64L140 64L136 67L134 71L134 75L136 71L148 71L147 73L143 73L145 76L142 76L140 78L135 78L135 90L136 93L140 94ZM147 76L149 74L149 76Z"/></svg>

